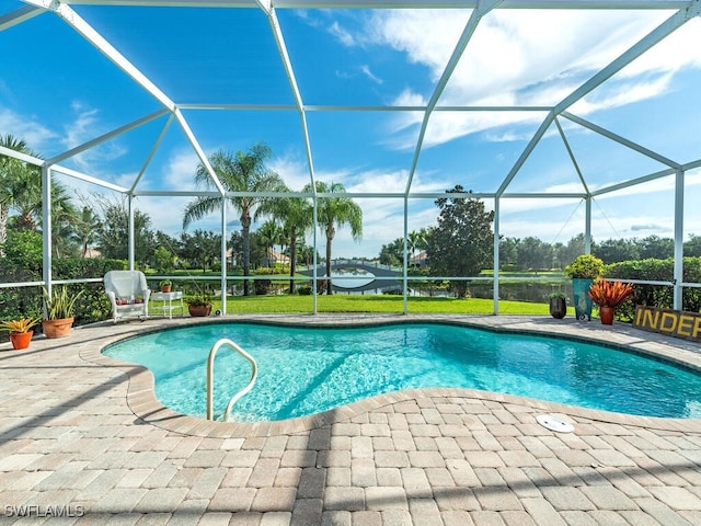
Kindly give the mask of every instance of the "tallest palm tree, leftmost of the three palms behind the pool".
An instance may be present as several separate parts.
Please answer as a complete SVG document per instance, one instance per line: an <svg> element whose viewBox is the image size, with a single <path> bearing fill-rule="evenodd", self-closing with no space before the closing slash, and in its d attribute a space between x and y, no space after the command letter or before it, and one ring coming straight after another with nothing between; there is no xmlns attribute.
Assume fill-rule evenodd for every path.
<svg viewBox="0 0 701 526"><path fill-rule="evenodd" d="M245 153L238 151L233 155L219 150L209 158L209 162L227 192L284 192L285 185L280 176L265 167L265 161L271 155L271 148L263 142L258 142ZM209 172L202 162L195 173L195 183L208 190L215 188ZM258 205L267 201L267 198L246 195L228 197L228 201L241 214L243 276L248 277L251 264L251 220L258 217L261 214ZM220 195L195 197L185 208L183 228L187 228L193 220L220 209L221 204L222 197ZM248 279L243 281L243 295L249 296Z"/></svg>

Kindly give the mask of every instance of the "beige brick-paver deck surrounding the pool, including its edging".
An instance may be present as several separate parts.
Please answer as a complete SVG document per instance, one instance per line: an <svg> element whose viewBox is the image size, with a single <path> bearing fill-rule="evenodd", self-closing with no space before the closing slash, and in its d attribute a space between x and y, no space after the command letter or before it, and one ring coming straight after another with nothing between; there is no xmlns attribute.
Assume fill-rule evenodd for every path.
<svg viewBox="0 0 701 526"><path fill-rule="evenodd" d="M449 321L627 344L701 369L693 342L598 320L237 316L291 324ZM143 368L103 357L149 319L0 345L0 523L699 525L701 420L422 389L294 421L211 423L158 403ZM542 427L555 413L574 433Z"/></svg>

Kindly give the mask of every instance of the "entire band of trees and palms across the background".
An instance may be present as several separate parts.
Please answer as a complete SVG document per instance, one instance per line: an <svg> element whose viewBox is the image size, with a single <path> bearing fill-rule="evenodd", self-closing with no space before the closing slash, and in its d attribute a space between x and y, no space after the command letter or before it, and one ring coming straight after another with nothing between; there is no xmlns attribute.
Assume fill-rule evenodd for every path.
<svg viewBox="0 0 701 526"><path fill-rule="evenodd" d="M39 157L25 141L10 135L0 137L7 148ZM269 147L260 142L250 150L235 153L219 150L209 158L223 190L231 193L255 193L261 195L227 197L228 204L240 215L241 230L233 232L227 245L244 276L252 267L268 261L271 250L279 245L289 258L289 291L295 291L297 264L310 264L313 249L306 244L306 235L313 228L312 203L302 197L265 197L274 193L289 193L283 179L267 168L272 156ZM202 190L216 191L207 167L199 163L194 181ZM340 183L315 183L317 193L325 194L318 199L318 224L326 239L325 258L332 260L332 242L337 229L348 227L354 239L363 235L363 210L349 197ZM310 184L302 192L312 192ZM427 267L430 275L470 276L493 267L494 213L485 209L476 198L451 197L464 194L457 185L446 191L446 196L435 201L439 210L436 226L412 231L407 236L411 256L410 266ZM51 182L53 250L54 255L89 255L91 249L103 258L124 260L128 252L128 209L126 198L108 199L92 196L76 206L67 188L57 181ZM222 197L218 192L194 197L183 214L183 231L177 237L154 230L148 214L136 210L135 259L137 265L162 272L173 268L202 268L208 271L221 264L221 235L187 228L196 220L220 210ZM255 231L252 221L266 218ZM12 245L21 245L26 253L35 253L38 243L41 255L42 230L41 172L37 167L21 160L0 156L0 256ZM8 232L34 232L36 236L8 236ZM26 244L32 244L30 249ZM536 237L524 239L504 237L499 241L499 267L508 271L562 270L577 255L584 253L584 236L578 235L566 243L548 243ZM701 237L690 236L685 242L685 255L701 255ZM403 264L404 240L398 238L382 245L378 259L389 265ZM674 255L674 240L648 236L643 239L609 239L593 242L591 252L606 263L641 259L667 259ZM418 259L420 254L425 258ZM331 268L327 265L326 276ZM452 285L458 297L466 293L466 285ZM326 282L331 294L331 281ZM243 281L243 294L249 295L249 282Z"/></svg>

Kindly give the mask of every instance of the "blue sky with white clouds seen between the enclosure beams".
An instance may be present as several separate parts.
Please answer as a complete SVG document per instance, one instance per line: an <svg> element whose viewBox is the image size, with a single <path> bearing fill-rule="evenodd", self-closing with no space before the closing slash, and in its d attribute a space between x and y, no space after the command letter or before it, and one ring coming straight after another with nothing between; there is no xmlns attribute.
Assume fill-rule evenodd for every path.
<svg viewBox="0 0 701 526"><path fill-rule="evenodd" d="M70 2L68 2L70 3ZM22 7L5 1L0 16ZM258 9L73 5L176 104L292 105L278 49ZM485 16L446 84L439 105L553 105L673 14L671 11L499 10ZM425 105L469 10L277 10L306 105ZM701 158L701 21L697 18L570 111L681 163ZM50 158L160 110L160 104L53 13L0 32L0 134L22 137ZM291 190L309 182L296 111L202 111L183 115L206 153L267 142L269 162ZM421 112L308 112L315 176L349 192L402 193ZM494 192L526 148L541 112L436 112L412 192L461 184ZM118 136L62 165L130 186L166 116ZM657 161L561 121L590 188L662 170ZM138 190L193 190L198 159L172 124ZM687 173L685 232L701 235L699 170ZM61 178L90 201L97 188ZM593 235L671 236L674 178L596 199ZM552 126L509 192L582 191ZM334 255L377 255L402 235L403 201L356 199L364 238L341 230ZM140 197L153 227L176 235L186 198ZM487 206L492 203L487 201ZM433 199L410 199L409 229L435 224ZM562 199L503 199L501 232L566 242L583 231L584 205ZM237 229L235 214L229 214ZM191 229L218 229L219 219ZM311 237L309 237L311 239ZM323 247L323 242L321 242ZM320 247L320 248L321 248ZM323 252L323 249L322 249Z"/></svg>

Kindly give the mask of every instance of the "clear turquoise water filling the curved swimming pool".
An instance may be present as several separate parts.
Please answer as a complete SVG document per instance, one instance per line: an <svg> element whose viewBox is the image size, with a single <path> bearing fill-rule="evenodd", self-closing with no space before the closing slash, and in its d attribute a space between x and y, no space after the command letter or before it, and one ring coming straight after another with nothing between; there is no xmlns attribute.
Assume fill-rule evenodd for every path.
<svg viewBox="0 0 701 526"><path fill-rule="evenodd" d="M701 376L666 363L582 342L441 324L314 329L218 323L150 333L104 354L143 365L156 395L184 414L205 416L207 355L228 338L258 363L238 421L275 421L382 392L463 387L630 414L701 418ZM217 353L215 414L249 381L249 363Z"/></svg>

